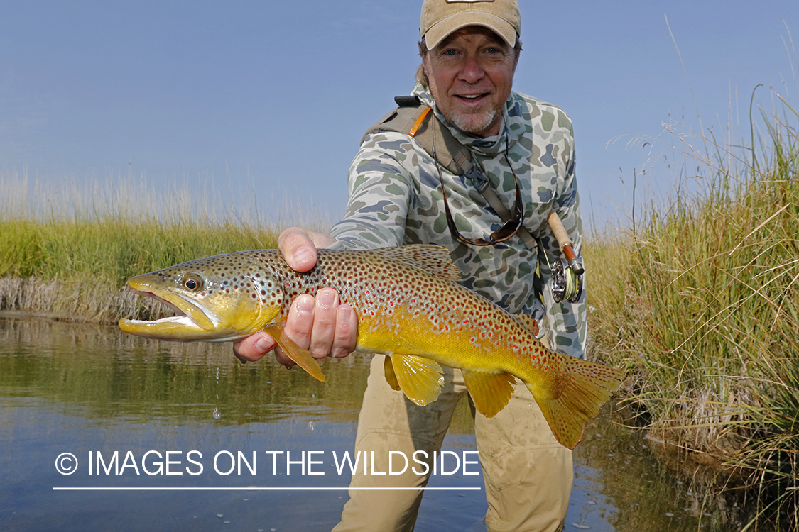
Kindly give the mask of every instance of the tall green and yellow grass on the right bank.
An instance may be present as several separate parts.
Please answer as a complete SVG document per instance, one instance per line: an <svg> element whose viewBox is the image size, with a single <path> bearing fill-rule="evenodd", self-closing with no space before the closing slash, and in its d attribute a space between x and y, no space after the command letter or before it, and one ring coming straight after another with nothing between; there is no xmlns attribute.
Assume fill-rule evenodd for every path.
<svg viewBox="0 0 799 532"><path fill-rule="evenodd" d="M693 190L638 205L634 233L586 256L594 350L634 377L639 424L733 465L797 522L799 114L777 104L745 148L675 129Z"/></svg>

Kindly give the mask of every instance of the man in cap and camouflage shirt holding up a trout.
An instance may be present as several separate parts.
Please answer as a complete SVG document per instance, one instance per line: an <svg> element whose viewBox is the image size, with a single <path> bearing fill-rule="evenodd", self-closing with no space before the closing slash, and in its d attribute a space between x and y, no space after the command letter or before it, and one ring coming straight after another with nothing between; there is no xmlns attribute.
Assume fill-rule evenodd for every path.
<svg viewBox="0 0 799 532"><path fill-rule="evenodd" d="M475 167L505 206L515 205L519 189L523 227L535 235L538 246L526 245L518 232L506 231L505 221L471 180L441 167L439 156L431 156L415 138L376 131L364 138L350 168L344 220L329 235L288 229L280 235L280 250L289 265L305 271L315 264L320 247L445 246L465 286L511 313L546 323L555 349L582 357L585 296L576 304L555 304L544 290L545 311L534 289L539 258L546 282L544 255L549 260L559 256L547 215L553 209L560 215L578 254L582 225L568 116L552 104L511 90L521 51L519 30L516 0L425 0L422 65L413 94L467 147ZM354 349L356 319L352 307L340 304L333 290L321 290L316 299L302 296L292 303L286 331L315 357L343 357ZM274 347L271 338L258 333L234 350L244 361L257 360ZM292 364L279 349L276 356ZM439 399L416 406L386 383L383 358L372 361L356 439L356 451L385 457L376 471L387 471L388 451L407 456L425 451L432 459L455 404L467 395L460 372L444 368ZM488 529L562 529L572 482L570 451L555 441L523 384L515 387L510 403L495 417L475 414L475 435L489 503ZM426 475L410 468L407 475L369 473L354 475L351 487L427 483ZM422 493L351 491L335 530L413 530Z"/></svg>

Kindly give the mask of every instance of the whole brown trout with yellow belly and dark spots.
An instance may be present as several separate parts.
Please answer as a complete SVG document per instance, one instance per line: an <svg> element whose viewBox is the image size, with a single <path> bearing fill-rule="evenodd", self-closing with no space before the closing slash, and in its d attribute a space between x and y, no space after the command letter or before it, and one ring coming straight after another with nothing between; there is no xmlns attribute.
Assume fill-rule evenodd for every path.
<svg viewBox="0 0 799 532"><path fill-rule="evenodd" d="M356 349L389 355L388 383L415 404L438 398L440 365L447 365L460 368L475 408L491 417L510 400L516 377L532 392L555 438L574 448L622 372L547 349L523 321L460 286L458 278L439 246L320 250L307 273L292 270L278 250L241 251L131 278L131 289L180 315L121 320L119 326L168 341L237 341L263 330L324 381L316 360L286 336L283 325L296 296L329 286L356 311Z"/></svg>

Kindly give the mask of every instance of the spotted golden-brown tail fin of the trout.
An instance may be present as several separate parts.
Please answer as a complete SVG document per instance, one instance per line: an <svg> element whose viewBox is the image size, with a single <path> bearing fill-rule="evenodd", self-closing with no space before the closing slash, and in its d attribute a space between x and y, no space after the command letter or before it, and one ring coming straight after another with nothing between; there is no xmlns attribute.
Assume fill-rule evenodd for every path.
<svg viewBox="0 0 799 532"><path fill-rule="evenodd" d="M551 381L550 389L526 382L527 388L539 404L555 439L574 449L582 439L588 420L599 413L599 408L622 384L623 373L593 362L562 355L562 371Z"/></svg>

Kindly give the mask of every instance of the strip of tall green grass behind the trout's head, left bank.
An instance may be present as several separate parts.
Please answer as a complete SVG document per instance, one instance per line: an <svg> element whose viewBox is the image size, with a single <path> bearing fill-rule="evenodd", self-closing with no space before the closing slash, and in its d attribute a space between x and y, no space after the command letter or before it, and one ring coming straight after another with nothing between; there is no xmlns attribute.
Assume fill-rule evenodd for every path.
<svg viewBox="0 0 799 532"><path fill-rule="evenodd" d="M287 202L270 205L265 219L254 205L236 211L189 190L157 191L129 176L78 186L0 175L0 309L90 321L157 314L160 306L123 289L127 278L193 258L275 247L279 224L292 222ZM306 214L293 218L326 227L323 217Z"/></svg>

